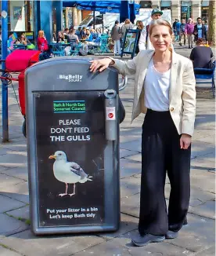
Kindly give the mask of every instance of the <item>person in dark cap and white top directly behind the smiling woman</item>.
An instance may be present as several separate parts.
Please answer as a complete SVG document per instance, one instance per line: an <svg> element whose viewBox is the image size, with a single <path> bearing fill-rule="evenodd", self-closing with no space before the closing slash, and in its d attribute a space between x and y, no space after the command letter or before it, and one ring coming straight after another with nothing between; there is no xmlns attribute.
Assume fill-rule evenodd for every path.
<svg viewBox="0 0 216 256"><path fill-rule="evenodd" d="M151 18L153 20L160 19L162 16L163 12L160 9L153 9L151 13ZM151 22L152 22L151 21ZM149 27L150 24L147 24L145 27L143 27L140 38L139 38L139 50L141 51L142 49L153 49L153 45L149 40Z"/></svg>

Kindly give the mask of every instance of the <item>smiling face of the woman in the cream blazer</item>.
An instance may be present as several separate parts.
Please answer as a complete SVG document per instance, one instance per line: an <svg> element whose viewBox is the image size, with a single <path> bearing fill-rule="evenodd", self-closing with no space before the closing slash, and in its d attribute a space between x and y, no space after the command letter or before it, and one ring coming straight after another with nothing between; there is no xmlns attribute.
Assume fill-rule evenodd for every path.
<svg viewBox="0 0 216 256"><path fill-rule="evenodd" d="M150 41L156 51L166 51L171 46L171 33L169 27L156 25L150 35Z"/></svg>

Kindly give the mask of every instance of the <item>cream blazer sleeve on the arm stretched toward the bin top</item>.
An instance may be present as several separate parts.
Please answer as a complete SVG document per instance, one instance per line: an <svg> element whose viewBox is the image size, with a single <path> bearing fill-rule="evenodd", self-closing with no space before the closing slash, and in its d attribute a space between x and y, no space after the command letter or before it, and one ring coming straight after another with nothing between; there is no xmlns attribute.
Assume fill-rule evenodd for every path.
<svg viewBox="0 0 216 256"><path fill-rule="evenodd" d="M139 60L139 55L134 57L132 60L117 60L110 58L115 62L111 67L116 68L121 75L134 75L136 71L136 65Z"/></svg>

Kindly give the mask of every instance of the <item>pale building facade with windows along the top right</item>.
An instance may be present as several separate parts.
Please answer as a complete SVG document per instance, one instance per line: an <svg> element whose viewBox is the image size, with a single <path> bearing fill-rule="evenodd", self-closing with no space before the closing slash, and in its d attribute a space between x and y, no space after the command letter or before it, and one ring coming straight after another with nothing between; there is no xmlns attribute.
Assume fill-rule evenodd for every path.
<svg viewBox="0 0 216 256"><path fill-rule="evenodd" d="M172 20L188 19L192 17L194 20L201 17L208 20L209 1L139 1L141 8L160 8L171 9Z"/></svg>

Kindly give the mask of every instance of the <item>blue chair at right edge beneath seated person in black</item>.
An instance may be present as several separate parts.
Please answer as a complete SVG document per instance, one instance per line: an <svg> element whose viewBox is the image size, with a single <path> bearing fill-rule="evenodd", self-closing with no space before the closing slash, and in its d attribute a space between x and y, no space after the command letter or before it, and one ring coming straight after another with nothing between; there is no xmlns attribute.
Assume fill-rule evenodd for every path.
<svg viewBox="0 0 216 256"><path fill-rule="evenodd" d="M196 81L196 83L211 83L211 89L212 89L212 94L213 94L213 97L215 97L215 84L214 84L214 71L215 71L215 60L213 62L213 68L194 68L194 75L195 75L195 78L196 79L205 79L205 80L210 80L209 82L200 82L200 81ZM207 74L195 74L196 71L200 71L200 73L203 73L203 72L207 72Z"/></svg>

